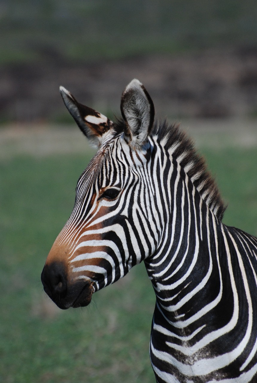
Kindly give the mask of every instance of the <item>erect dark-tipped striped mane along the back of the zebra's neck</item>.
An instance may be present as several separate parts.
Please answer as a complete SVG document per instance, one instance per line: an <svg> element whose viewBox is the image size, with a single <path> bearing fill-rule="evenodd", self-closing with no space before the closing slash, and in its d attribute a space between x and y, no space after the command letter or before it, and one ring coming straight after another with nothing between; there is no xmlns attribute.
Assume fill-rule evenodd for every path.
<svg viewBox="0 0 257 383"><path fill-rule="evenodd" d="M192 180L206 205L216 217L222 219L226 207L216 182L206 170L205 160L196 153L192 140L180 129L179 124L155 121L151 136L157 136L160 142L165 142L165 147Z"/></svg>

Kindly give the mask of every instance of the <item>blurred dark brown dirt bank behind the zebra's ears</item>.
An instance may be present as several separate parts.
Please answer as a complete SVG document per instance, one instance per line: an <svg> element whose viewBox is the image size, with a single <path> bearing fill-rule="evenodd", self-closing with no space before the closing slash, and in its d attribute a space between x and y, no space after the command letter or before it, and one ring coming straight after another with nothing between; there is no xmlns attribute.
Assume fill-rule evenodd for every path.
<svg viewBox="0 0 257 383"><path fill-rule="evenodd" d="M145 56L70 65L60 60L0 68L2 121L49 121L67 116L59 85L88 106L119 113L134 77L160 116L231 118L257 115L257 47L180 56Z"/></svg>

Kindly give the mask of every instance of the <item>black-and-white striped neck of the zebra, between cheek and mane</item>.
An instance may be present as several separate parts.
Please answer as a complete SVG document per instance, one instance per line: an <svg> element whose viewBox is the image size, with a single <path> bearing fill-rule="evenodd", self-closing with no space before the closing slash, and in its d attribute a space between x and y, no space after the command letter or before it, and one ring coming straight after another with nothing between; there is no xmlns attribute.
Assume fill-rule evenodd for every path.
<svg viewBox="0 0 257 383"><path fill-rule="evenodd" d="M206 297L213 295L210 275L214 269L215 275L220 275L217 249L222 223L180 164L174 159L168 162L169 159L164 164L164 159L159 158L159 166L169 168L163 180L157 182L164 185L166 180L162 193L156 193L156 206L162 206L159 211L162 229L157 249L145 260L145 265L159 310L170 325L179 327L180 318L185 324L185 316L192 317L192 310L199 311L201 304L206 303L201 300L204 298L201 291L207 282ZM215 288L218 285L215 281ZM193 297L199 303L194 307L190 305Z"/></svg>

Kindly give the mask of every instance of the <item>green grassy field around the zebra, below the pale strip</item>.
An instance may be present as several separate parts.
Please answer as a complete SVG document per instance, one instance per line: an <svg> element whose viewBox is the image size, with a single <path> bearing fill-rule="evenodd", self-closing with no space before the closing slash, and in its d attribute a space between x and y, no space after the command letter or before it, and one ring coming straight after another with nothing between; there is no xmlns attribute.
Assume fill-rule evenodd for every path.
<svg viewBox="0 0 257 383"><path fill-rule="evenodd" d="M257 235L256 149L202 152L229 203L224 223ZM88 160L72 153L0 160L0 381L155 381L148 355L154 293L143 265L85 309L61 311L43 293L41 270Z"/></svg>

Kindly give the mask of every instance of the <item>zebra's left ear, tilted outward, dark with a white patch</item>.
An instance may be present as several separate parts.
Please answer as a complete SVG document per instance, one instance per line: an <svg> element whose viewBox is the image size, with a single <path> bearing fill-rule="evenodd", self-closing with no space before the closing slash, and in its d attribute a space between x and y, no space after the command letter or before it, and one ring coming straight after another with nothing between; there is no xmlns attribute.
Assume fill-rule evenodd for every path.
<svg viewBox="0 0 257 383"><path fill-rule="evenodd" d="M60 93L66 108L75 119L80 130L93 146L100 147L103 134L113 128L113 122L101 113L80 104L64 87L60 87Z"/></svg>

